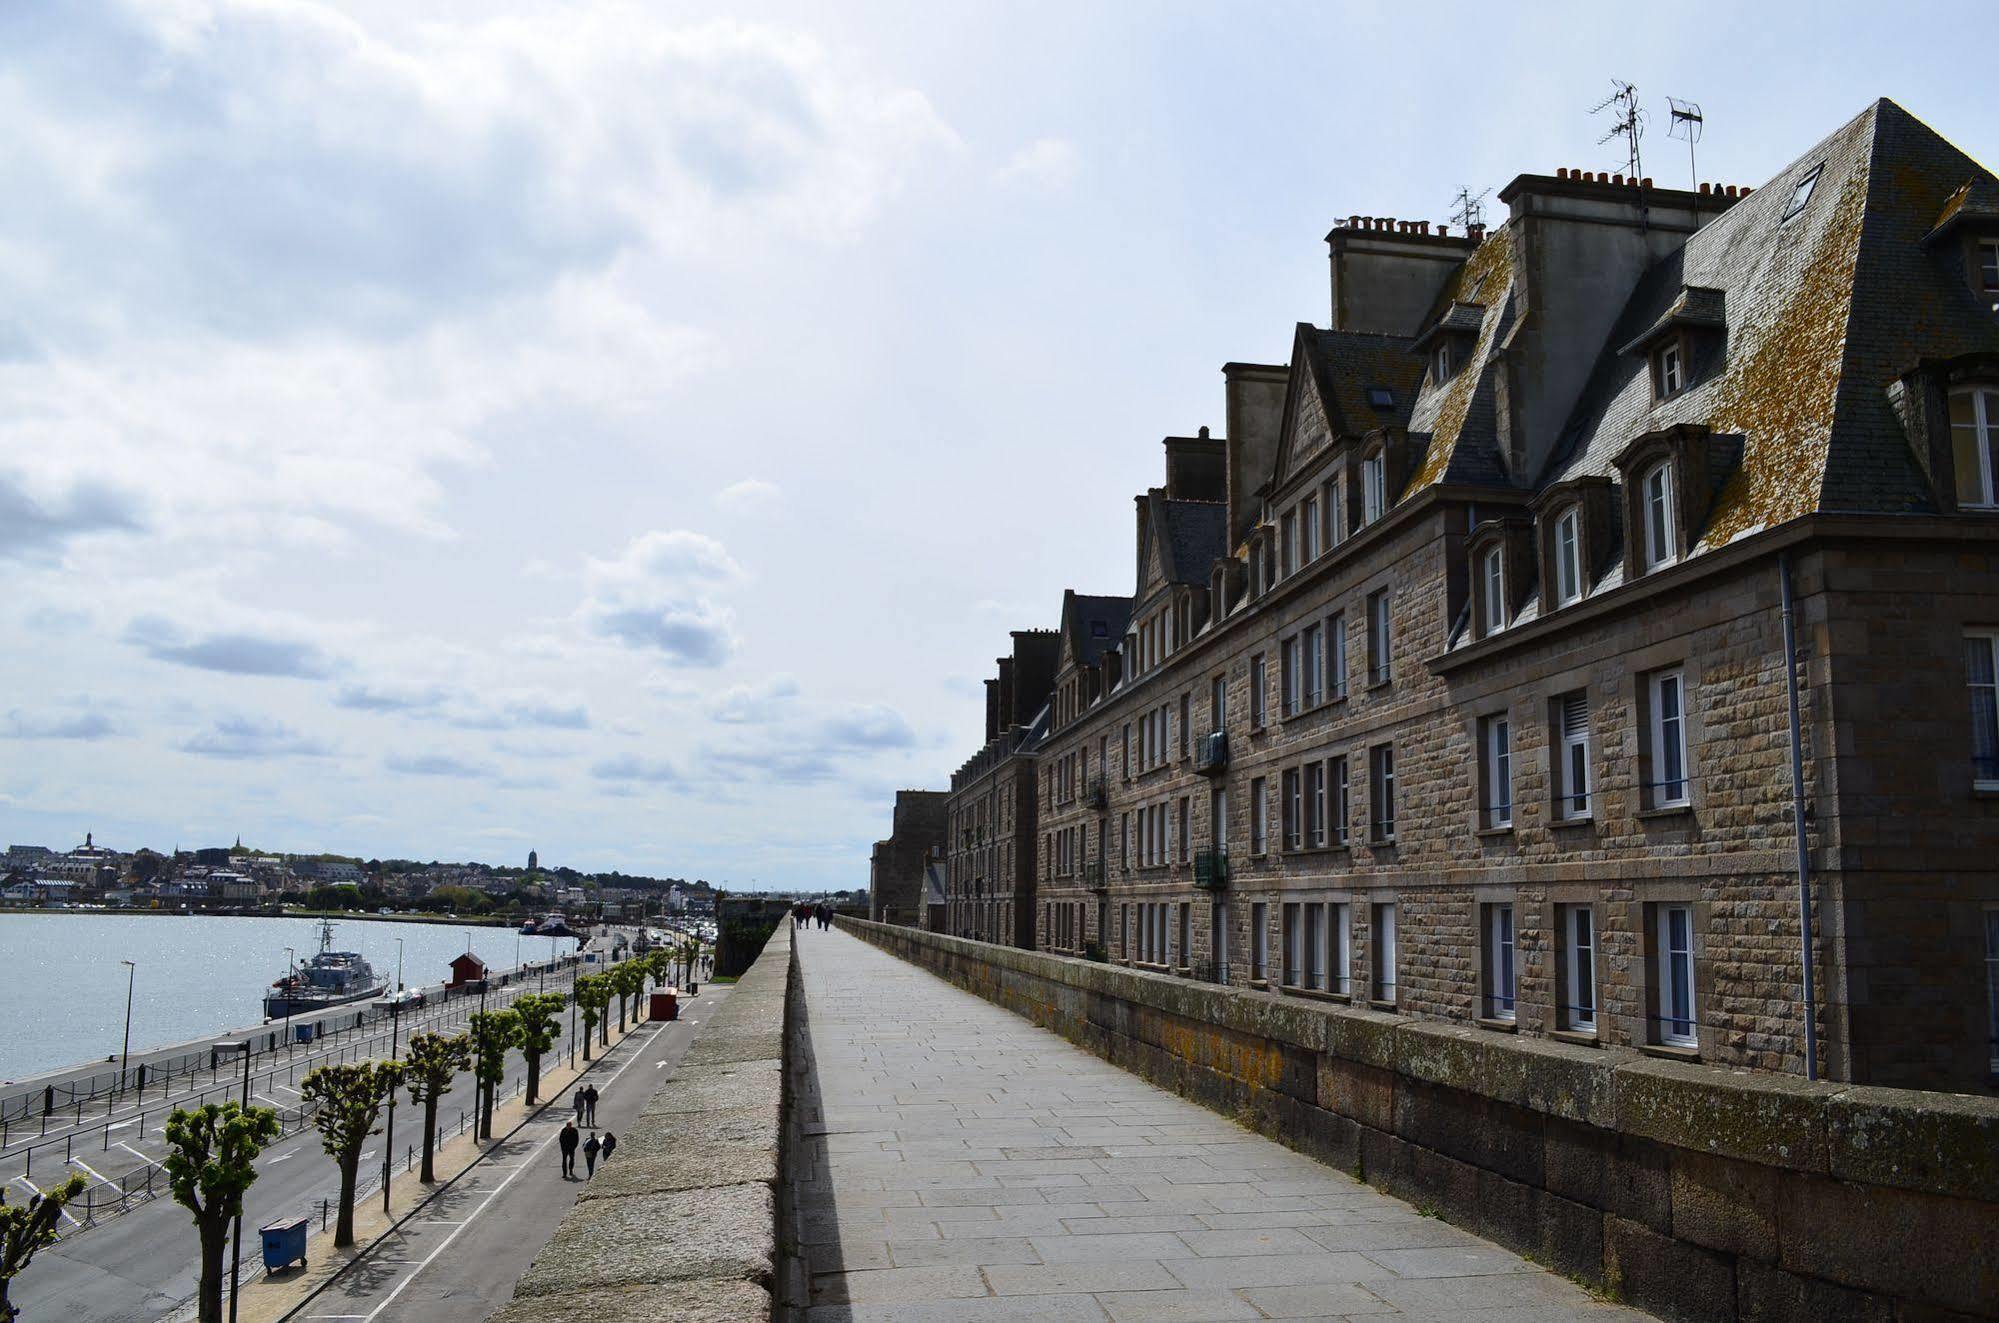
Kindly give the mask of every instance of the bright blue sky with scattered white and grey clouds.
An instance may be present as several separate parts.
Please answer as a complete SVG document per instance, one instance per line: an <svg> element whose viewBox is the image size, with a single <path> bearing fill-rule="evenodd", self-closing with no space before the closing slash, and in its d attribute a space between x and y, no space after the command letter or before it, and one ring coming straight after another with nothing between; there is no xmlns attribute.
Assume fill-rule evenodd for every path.
<svg viewBox="0 0 1999 1323"><path fill-rule="evenodd" d="M500 10L0 8L0 841L862 883L1335 216L1999 160L1969 4Z"/></svg>

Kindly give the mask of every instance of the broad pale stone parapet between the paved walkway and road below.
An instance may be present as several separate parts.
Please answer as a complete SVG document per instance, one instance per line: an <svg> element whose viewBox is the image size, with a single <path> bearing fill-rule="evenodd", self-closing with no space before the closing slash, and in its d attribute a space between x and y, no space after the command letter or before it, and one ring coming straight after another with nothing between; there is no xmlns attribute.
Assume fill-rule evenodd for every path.
<svg viewBox="0 0 1999 1323"><path fill-rule="evenodd" d="M494 1323L772 1317L790 995L780 923Z"/></svg>

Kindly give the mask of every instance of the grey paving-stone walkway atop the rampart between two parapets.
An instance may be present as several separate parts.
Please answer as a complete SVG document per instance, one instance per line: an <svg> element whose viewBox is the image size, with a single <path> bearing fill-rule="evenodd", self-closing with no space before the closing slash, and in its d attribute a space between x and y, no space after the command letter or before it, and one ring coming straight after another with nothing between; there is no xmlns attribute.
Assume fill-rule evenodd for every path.
<svg viewBox="0 0 1999 1323"><path fill-rule="evenodd" d="M842 931L802 931L808 1323L1643 1323Z"/></svg>

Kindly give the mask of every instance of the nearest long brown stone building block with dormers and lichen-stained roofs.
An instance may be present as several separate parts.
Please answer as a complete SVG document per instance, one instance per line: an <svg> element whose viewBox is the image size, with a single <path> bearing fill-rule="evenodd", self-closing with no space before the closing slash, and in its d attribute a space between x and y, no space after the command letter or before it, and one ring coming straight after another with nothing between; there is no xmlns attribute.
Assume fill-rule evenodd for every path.
<svg viewBox="0 0 1999 1323"><path fill-rule="evenodd" d="M1999 180L1883 100L1757 190L1499 200L1335 226L1331 326L1065 598L1037 945L1991 1089Z"/></svg>

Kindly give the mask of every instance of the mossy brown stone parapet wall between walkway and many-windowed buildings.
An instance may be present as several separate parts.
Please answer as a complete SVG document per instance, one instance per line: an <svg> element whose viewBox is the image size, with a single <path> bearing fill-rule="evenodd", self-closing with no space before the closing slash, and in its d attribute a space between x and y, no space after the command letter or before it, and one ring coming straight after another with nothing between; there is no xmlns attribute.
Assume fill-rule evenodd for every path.
<svg viewBox="0 0 1999 1323"><path fill-rule="evenodd" d="M842 923L1661 1317L1999 1317L1999 1099L1807 1083Z"/></svg>

